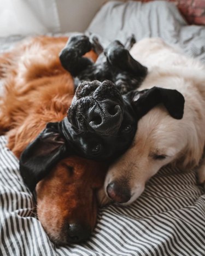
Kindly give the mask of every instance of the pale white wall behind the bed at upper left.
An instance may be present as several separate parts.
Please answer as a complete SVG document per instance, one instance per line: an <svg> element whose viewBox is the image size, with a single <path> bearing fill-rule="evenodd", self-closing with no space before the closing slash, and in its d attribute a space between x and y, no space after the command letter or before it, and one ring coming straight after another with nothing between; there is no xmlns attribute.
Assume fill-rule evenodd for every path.
<svg viewBox="0 0 205 256"><path fill-rule="evenodd" d="M0 37L83 32L108 0L0 0Z"/></svg>

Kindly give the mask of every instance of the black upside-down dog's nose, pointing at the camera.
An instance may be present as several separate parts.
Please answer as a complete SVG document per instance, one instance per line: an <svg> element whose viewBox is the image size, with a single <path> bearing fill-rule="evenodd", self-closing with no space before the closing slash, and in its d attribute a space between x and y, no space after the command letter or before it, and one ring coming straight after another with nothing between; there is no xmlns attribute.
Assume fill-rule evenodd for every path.
<svg viewBox="0 0 205 256"><path fill-rule="evenodd" d="M119 104L111 100L96 102L88 114L90 127L99 133L114 135L118 132L123 118Z"/></svg>

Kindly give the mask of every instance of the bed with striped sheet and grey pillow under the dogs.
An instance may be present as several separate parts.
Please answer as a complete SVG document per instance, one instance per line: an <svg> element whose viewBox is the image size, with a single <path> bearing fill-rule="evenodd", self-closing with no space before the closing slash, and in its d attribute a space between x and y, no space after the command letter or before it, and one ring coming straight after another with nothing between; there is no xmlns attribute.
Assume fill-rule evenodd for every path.
<svg viewBox="0 0 205 256"><path fill-rule="evenodd" d="M108 2L85 33L97 34L104 46L113 39L125 42L132 33L137 40L162 37L205 63L205 26L188 25L173 3ZM22 38L1 38L1 51ZM38 221L6 143L1 136L0 255L205 255L205 191L195 170L162 168L132 205L99 209L88 241L62 247L50 242Z"/></svg>

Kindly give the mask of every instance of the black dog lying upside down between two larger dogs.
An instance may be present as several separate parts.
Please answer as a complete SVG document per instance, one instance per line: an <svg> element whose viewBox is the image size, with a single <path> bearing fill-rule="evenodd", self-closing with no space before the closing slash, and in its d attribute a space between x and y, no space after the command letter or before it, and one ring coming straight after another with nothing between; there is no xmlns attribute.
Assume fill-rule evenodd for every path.
<svg viewBox="0 0 205 256"><path fill-rule="evenodd" d="M173 118L183 117L184 97L177 90L154 87L133 91L142 83L147 68L119 41L111 43L96 64L83 57L91 47L89 38L77 35L68 40L60 54L63 67L75 77L77 90L68 117L48 123L21 154L20 172L30 190L68 155L116 159L131 145L138 120L159 103ZM102 50L97 41L93 48ZM80 83L85 79L98 80Z"/></svg>

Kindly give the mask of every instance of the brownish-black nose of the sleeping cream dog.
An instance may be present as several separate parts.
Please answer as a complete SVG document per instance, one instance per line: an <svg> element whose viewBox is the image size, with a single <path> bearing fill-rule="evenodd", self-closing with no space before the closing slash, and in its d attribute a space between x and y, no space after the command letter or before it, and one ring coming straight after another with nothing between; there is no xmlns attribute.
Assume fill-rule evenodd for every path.
<svg viewBox="0 0 205 256"><path fill-rule="evenodd" d="M125 203L131 198L130 188L126 185L120 185L118 182L111 182L107 186L107 194L115 202Z"/></svg>

